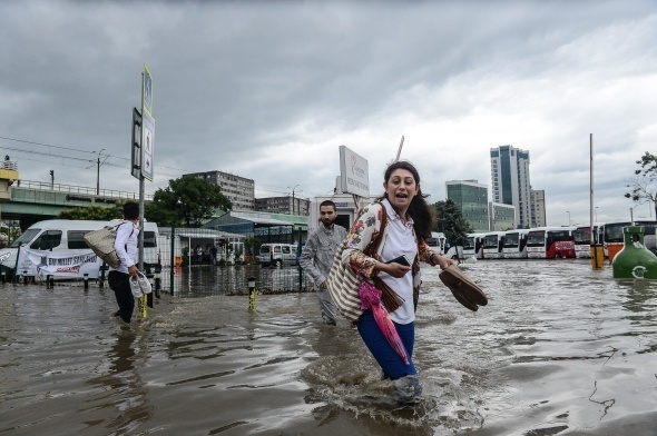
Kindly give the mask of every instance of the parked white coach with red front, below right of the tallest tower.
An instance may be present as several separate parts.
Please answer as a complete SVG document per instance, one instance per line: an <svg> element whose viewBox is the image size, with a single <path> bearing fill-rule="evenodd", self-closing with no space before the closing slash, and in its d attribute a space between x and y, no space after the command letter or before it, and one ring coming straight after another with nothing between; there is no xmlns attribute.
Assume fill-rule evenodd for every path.
<svg viewBox="0 0 657 436"><path fill-rule="evenodd" d="M553 259L575 257L575 227L537 227L527 235L527 257Z"/></svg>

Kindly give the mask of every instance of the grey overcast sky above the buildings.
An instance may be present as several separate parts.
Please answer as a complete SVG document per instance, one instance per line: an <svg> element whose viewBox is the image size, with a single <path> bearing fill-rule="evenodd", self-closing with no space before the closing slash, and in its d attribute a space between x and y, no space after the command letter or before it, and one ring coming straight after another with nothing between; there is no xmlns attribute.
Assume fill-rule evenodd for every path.
<svg viewBox="0 0 657 436"><path fill-rule="evenodd" d="M0 152L22 180L138 191L133 107L154 78L155 180L222 170L256 197L332 192L339 147L396 155L430 202L528 150L548 225L654 217L624 197L657 152L657 2L3 1ZM490 197L489 197L490 198Z"/></svg>

